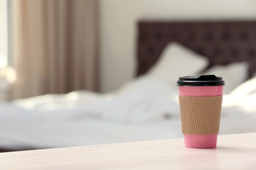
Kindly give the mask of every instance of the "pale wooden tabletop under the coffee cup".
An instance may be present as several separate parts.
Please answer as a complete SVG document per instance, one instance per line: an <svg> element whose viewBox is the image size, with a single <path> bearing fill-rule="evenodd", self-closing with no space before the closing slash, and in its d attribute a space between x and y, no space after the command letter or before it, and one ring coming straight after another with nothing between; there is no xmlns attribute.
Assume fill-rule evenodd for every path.
<svg viewBox="0 0 256 170"><path fill-rule="evenodd" d="M256 169L256 133L221 135L215 149L170 139L7 152L0 169Z"/></svg>

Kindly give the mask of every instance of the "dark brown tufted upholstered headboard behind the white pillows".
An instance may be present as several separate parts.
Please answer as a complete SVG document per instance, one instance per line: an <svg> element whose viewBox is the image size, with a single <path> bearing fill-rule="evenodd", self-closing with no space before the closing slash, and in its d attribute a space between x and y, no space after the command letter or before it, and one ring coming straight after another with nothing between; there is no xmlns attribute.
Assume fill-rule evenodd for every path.
<svg viewBox="0 0 256 170"><path fill-rule="evenodd" d="M248 76L256 71L256 21L139 22L137 75L146 73L172 41L209 58L209 67L249 61Z"/></svg>

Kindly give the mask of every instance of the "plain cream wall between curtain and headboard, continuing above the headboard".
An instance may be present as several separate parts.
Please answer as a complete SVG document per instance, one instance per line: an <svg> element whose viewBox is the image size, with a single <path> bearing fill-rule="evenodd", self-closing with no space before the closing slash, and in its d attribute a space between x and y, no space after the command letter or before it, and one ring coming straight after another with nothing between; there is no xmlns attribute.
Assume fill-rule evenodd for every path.
<svg viewBox="0 0 256 170"><path fill-rule="evenodd" d="M138 20L243 18L256 18L255 0L100 0L101 91L115 90L135 75Z"/></svg>

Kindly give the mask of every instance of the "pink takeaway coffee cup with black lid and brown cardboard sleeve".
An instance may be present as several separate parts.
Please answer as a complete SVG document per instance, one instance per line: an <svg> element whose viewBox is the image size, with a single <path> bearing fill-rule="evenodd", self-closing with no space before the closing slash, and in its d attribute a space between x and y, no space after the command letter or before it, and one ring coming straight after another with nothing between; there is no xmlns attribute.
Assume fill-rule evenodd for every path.
<svg viewBox="0 0 256 170"><path fill-rule="evenodd" d="M181 76L179 105L185 146L216 148L224 80L215 75Z"/></svg>

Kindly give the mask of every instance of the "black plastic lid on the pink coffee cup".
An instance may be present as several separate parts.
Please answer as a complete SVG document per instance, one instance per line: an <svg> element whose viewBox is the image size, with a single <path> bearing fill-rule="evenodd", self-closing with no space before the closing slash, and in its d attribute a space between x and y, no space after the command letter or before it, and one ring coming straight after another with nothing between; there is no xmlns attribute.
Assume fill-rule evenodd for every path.
<svg viewBox="0 0 256 170"><path fill-rule="evenodd" d="M181 76L177 81L177 86L223 86L224 80L221 76L201 75L201 76Z"/></svg>

